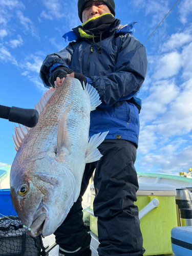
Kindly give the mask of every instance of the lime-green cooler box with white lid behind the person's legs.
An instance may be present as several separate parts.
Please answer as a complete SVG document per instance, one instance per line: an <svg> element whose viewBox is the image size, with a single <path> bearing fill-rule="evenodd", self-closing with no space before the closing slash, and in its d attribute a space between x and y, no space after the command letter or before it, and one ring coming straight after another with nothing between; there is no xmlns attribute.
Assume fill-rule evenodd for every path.
<svg viewBox="0 0 192 256"><path fill-rule="evenodd" d="M144 255L172 254L171 230L177 227L176 188L163 184L140 184L139 187L135 203L139 211L153 198L159 200L159 205L140 220ZM93 210L93 185L91 185L91 193L90 209ZM90 229L98 236L97 218L93 216L90 216Z"/></svg>

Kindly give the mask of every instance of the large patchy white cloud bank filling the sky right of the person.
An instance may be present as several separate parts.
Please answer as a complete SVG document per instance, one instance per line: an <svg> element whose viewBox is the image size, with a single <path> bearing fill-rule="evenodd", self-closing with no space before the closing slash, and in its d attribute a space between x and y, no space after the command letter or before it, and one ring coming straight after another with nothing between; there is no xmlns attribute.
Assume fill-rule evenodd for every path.
<svg viewBox="0 0 192 256"><path fill-rule="evenodd" d="M147 84L144 92L141 89L143 99L138 148L138 155L141 156L138 164L144 172L177 173L182 169L187 172L191 167L190 26L186 27L186 31L170 35L159 54L148 57L150 70ZM167 53L162 54L163 49ZM174 78L162 80L170 77Z"/></svg>

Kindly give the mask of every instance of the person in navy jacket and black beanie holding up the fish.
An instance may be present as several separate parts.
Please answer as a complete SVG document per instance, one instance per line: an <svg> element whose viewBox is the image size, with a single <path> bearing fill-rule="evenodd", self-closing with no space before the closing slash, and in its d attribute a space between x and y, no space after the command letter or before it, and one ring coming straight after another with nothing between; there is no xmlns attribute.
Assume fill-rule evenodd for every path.
<svg viewBox="0 0 192 256"><path fill-rule="evenodd" d="M63 37L69 45L49 54L40 69L45 87L59 87L66 76L90 83L102 104L90 114L90 136L109 131L98 149L102 158L86 164L78 200L55 231L59 255L91 255L91 236L82 220L82 196L95 170L94 214L98 254L141 256L142 234L134 167L139 135L139 99L147 72L145 48L133 37L134 23L121 25L113 0L78 0L82 25ZM75 40L75 41L74 41Z"/></svg>

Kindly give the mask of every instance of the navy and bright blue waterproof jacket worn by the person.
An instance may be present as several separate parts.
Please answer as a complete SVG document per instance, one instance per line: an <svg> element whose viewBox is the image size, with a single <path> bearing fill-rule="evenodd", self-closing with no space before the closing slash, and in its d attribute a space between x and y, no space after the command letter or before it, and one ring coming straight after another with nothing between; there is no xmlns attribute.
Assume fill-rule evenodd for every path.
<svg viewBox="0 0 192 256"><path fill-rule="evenodd" d="M109 131L105 139L124 139L138 145L139 111L134 101L146 76L147 58L145 47L131 35L133 26L134 23L121 26L116 19L114 26L102 34L102 54L98 53L99 38L96 45L91 39L76 35L76 41L46 57L40 78L49 88L49 76L59 65L86 76L102 101L91 112L90 136ZM64 37L69 39L70 33Z"/></svg>

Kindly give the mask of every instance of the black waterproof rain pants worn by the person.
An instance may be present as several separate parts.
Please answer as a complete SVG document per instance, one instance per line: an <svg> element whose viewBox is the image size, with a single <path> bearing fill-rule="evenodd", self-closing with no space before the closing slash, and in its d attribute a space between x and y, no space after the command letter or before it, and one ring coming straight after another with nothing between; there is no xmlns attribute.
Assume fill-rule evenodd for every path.
<svg viewBox="0 0 192 256"><path fill-rule="evenodd" d="M100 256L142 256L142 234L138 208L134 205L138 190L134 167L136 147L125 140L104 140L98 146L102 158L86 164L79 198L67 218L55 231L56 243L63 249L74 251L87 248L91 236L82 221L82 196L95 170L94 214L98 217Z"/></svg>

